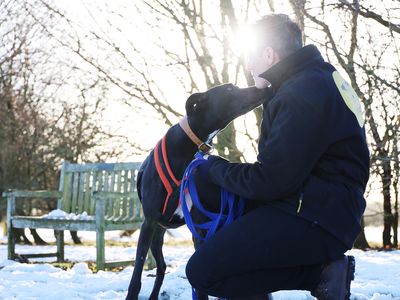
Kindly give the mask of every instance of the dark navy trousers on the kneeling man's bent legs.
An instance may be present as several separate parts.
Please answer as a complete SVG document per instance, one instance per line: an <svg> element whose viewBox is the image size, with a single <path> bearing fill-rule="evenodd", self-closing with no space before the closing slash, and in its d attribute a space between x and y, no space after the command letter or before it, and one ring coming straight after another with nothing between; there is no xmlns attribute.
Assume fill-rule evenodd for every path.
<svg viewBox="0 0 400 300"><path fill-rule="evenodd" d="M346 246L307 220L257 207L202 244L186 266L191 285L217 297L315 289L323 263Z"/></svg>

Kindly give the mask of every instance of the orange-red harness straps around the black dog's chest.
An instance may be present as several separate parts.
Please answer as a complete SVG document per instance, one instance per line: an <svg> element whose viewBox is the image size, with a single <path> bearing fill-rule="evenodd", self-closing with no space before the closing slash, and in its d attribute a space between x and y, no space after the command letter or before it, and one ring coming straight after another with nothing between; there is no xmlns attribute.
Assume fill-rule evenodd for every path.
<svg viewBox="0 0 400 300"><path fill-rule="evenodd" d="M172 192L173 192L174 188L179 188L180 185L181 185L181 181L182 181L182 180L176 179L176 177L172 173L171 166L169 165L169 162L168 162L167 146L166 146L165 140L166 140L166 138L164 136L161 139L161 141L159 141L157 143L156 147L154 148L154 163L156 165L156 170L157 170L158 176L160 177L160 179L161 179L161 181L162 181L162 183L163 183L163 185L165 187L165 190L167 191L167 197L165 198L165 201L164 201L164 207L163 207L163 210L162 210L162 215L164 215L166 210L167 210L168 201L169 201L169 198L172 195ZM162 167L161 160L160 160L160 154L159 154L160 143L161 143L162 160L164 162L165 169L167 170L167 173L168 173L169 177L166 176L166 174L165 174L165 172L163 170L163 167ZM171 181L172 181L172 183L171 183ZM178 206L176 208L178 208L179 205L180 205L180 199L178 201Z"/></svg>

